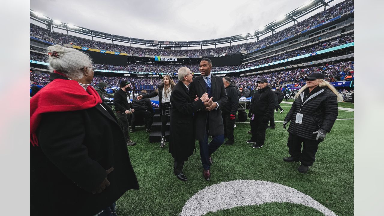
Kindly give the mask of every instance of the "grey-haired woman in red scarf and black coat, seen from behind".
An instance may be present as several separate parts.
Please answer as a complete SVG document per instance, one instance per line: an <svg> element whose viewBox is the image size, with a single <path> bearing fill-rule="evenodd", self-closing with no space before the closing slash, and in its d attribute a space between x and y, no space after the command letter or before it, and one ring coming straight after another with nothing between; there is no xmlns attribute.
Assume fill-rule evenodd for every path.
<svg viewBox="0 0 384 216"><path fill-rule="evenodd" d="M111 108L89 84L88 55L48 47L51 82L30 100L31 215L112 215L139 189Z"/></svg>

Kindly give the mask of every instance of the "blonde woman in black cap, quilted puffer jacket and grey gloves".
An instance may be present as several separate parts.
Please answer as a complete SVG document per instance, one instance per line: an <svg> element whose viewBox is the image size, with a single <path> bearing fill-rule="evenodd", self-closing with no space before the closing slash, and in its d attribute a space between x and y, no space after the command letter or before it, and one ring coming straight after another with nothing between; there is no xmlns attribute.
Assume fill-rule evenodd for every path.
<svg viewBox="0 0 384 216"><path fill-rule="evenodd" d="M322 73L312 73L305 78L306 85L295 95L295 101L283 123L285 128L291 121L287 143L291 156L284 158L284 161L301 161L298 168L301 173L306 173L308 167L312 166L319 143L331 131L338 116L340 95L324 78Z"/></svg>

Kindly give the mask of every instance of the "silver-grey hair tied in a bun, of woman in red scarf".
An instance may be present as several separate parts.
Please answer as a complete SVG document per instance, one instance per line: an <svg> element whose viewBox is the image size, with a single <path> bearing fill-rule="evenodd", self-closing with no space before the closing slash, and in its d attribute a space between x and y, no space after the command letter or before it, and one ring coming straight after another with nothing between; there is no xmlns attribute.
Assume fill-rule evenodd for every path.
<svg viewBox="0 0 384 216"><path fill-rule="evenodd" d="M49 67L52 70L59 71L72 80L83 78L82 69L92 67L92 59L85 53L67 48L60 45L48 47L48 53L57 53L49 56Z"/></svg>

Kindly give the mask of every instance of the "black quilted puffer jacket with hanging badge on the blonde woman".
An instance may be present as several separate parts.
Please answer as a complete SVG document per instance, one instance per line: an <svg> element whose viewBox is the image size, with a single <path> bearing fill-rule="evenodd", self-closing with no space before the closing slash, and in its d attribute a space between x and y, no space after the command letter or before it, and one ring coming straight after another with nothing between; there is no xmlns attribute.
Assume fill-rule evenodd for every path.
<svg viewBox="0 0 384 216"><path fill-rule="evenodd" d="M329 133L337 119L339 114L337 96L328 87L320 88L319 86L314 88L311 93L309 93L308 88L303 93L303 106L301 106L301 96L299 96L293 102L291 110L284 121L291 121L288 132L293 135L308 140L316 140L316 134L313 134L313 132L321 128ZM318 95L310 98L317 93ZM299 111L303 114L301 124L295 123L296 114Z"/></svg>

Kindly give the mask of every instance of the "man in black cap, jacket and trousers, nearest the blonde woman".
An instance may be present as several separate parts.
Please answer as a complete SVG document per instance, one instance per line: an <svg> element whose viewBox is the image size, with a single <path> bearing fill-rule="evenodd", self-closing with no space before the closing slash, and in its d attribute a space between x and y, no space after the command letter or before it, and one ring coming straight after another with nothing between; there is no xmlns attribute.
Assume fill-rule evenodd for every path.
<svg viewBox="0 0 384 216"><path fill-rule="evenodd" d="M252 148L261 148L265 141L265 131L268 121L275 109L275 93L268 86L268 80L260 78L257 80L258 91L255 92L249 106L248 116L251 118L250 126L252 138L247 143L253 143Z"/></svg>

